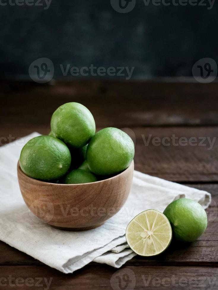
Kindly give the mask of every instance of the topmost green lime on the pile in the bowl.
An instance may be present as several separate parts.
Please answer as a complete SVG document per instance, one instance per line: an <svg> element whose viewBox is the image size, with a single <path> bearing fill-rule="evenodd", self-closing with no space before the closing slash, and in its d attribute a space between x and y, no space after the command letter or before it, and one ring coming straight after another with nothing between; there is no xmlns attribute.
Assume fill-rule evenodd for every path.
<svg viewBox="0 0 218 290"><path fill-rule="evenodd" d="M52 115L51 130L68 146L85 146L95 134L96 125L90 111L79 103L66 103Z"/></svg>

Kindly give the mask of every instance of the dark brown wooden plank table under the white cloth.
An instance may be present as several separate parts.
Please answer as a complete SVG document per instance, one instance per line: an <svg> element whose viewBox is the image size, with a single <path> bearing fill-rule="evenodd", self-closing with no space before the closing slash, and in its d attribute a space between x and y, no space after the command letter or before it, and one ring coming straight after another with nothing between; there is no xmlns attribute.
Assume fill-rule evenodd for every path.
<svg viewBox="0 0 218 290"><path fill-rule="evenodd" d="M7 283L0 289L44 289L45 282L39 283L39 277L52 277L50 289L55 290L112 286L128 290L133 289L134 281L135 289L218 289L218 141L210 148L206 141L200 146L202 138L198 139L217 137L217 83L79 81L39 85L5 81L0 83L0 91L2 145L33 131L49 133L52 112L63 103L80 102L93 113L98 128L128 128L136 138L136 170L212 194L203 236L192 244L172 244L152 259L136 256L128 261L121 268L124 273L133 271L128 285L123 282L115 287L116 277L122 279L123 271L113 275L117 269L110 266L91 263L65 275L0 242L0 278L30 277L43 285L16 288ZM175 136L177 142L185 137L190 144L184 145L186 139L180 139L183 142L177 146L170 139L169 146L152 141L145 146L149 135L151 140L160 137L160 142L164 137ZM197 138L197 146L191 137Z"/></svg>

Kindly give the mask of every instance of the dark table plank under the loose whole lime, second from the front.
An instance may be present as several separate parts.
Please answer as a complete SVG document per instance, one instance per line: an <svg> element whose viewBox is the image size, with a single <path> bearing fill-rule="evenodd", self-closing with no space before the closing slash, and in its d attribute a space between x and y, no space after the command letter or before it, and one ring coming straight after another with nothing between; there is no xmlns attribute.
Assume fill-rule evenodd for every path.
<svg viewBox="0 0 218 290"><path fill-rule="evenodd" d="M207 209L208 227L206 232L192 244L171 244L163 254L153 259L136 256L125 265L193 265L218 266L218 184L189 185L212 194L212 202ZM0 242L0 265L44 265L34 258ZM92 269L89 265L90 270Z"/></svg>

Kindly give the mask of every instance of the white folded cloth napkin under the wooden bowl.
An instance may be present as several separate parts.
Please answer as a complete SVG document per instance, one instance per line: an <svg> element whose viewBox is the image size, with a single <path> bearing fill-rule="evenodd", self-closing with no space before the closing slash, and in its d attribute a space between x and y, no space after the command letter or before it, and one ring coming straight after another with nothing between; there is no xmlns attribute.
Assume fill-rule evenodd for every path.
<svg viewBox="0 0 218 290"><path fill-rule="evenodd" d="M163 211L175 199L187 197L208 207L206 191L134 171L131 193L124 207L104 225L70 232L41 223L28 211L17 181L17 161L32 133L0 148L0 239L63 273L73 273L91 261L119 268L135 254L128 248L125 228L149 208Z"/></svg>

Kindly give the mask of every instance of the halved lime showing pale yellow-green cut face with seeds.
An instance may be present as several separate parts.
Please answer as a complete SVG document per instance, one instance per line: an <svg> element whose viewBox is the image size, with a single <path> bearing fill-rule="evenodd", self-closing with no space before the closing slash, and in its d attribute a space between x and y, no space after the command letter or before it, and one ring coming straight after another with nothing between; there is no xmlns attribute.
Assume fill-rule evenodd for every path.
<svg viewBox="0 0 218 290"><path fill-rule="evenodd" d="M126 228L130 248L140 256L155 256L165 251L172 239L167 217L157 210L145 210L136 215Z"/></svg>

